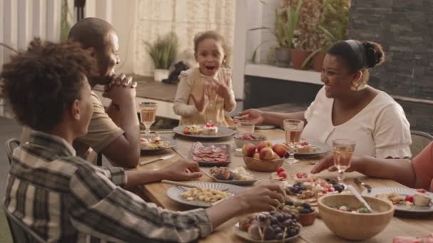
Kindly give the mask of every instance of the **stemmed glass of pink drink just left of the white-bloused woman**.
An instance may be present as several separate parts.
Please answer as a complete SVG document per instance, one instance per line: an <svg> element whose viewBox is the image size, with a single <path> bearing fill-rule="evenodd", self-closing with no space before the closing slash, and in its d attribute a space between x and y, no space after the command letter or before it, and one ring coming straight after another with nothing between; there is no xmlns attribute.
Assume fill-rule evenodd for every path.
<svg viewBox="0 0 433 243"><path fill-rule="evenodd" d="M286 144L288 146L288 163L293 164L298 162L295 158L296 145L301 140L303 130L303 121L286 119L283 121L284 132L286 134Z"/></svg>

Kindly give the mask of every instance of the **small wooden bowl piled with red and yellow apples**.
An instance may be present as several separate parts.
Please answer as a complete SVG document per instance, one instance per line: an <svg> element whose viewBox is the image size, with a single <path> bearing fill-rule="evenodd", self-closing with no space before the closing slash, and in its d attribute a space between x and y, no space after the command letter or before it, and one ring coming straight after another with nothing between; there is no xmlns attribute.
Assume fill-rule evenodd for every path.
<svg viewBox="0 0 433 243"><path fill-rule="evenodd" d="M273 172L284 163L286 145L262 141L258 146L248 143L242 146L244 163L253 171Z"/></svg>

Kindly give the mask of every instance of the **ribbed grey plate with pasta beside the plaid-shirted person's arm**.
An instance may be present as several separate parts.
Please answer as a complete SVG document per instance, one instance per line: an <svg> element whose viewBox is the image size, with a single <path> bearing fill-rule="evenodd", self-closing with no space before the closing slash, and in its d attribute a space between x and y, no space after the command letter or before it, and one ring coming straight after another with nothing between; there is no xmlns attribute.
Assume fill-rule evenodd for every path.
<svg viewBox="0 0 433 243"><path fill-rule="evenodd" d="M197 188L174 186L167 190L167 196L176 202L194 207L210 207L219 200L239 194L245 189L224 183L191 183Z"/></svg>

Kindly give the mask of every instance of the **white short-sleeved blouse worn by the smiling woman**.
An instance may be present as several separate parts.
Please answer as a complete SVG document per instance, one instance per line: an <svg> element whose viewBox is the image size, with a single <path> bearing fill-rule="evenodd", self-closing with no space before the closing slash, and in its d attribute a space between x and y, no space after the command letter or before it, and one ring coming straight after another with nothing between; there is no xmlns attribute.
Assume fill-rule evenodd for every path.
<svg viewBox="0 0 433 243"><path fill-rule="evenodd" d="M381 91L352 119L338 126L332 121L333 101L326 97L324 87L320 89L305 113L308 123L302 133L303 139L330 146L334 139L351 139L356 141L354 154L358 156L411 156L409 121L400 104L390 95Z"/></svg>

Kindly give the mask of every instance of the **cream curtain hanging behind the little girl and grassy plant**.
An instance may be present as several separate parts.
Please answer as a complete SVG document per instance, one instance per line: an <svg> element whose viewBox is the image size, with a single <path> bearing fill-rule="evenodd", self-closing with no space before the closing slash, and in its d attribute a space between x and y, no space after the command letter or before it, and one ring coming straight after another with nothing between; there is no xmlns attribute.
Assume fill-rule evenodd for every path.
<svg viewBox="0 0 433 243"><path fill-rule="evenodd" d="M143 41L174 32L179 38L179 53L194 50L194 35L214 30L233 46L234 1L236 0L138 0L134 72L152 75L153 63Z"/></svg>

